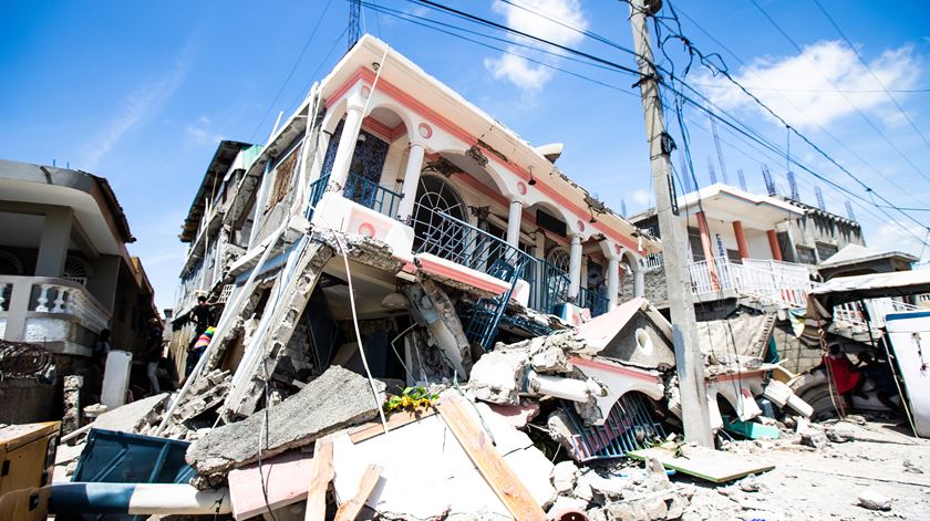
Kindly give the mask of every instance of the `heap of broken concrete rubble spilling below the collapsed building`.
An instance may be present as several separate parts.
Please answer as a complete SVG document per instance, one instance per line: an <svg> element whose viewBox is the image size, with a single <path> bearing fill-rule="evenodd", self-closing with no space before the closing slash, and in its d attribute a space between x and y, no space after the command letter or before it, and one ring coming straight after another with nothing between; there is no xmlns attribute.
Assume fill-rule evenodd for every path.
<svg viewBox="0 0 930 521"><path fill-rule="evenodd" d="M105 413L94 428L189 442L185 459L194 476L174 487L223 497L208 511L235 519L688 515L693 484L671 481L673 463L662 456L690 450L675 434L672 329L648 301L634 299L577 327L512 305L513 323L548 334L512 329L484 352L466 337L461 309L486 295L420 274L399 286L412 322L406 356L395 352L407 379L369 378L358 348L345 355L333 347L333 362L323 365L294 338L312 324L313 290L322 267L341 261L337 251L384 271L404 263L370 239L304 237L311 239L291 247L300 253L289 275L270 282L273 304L249 291L231 299L179 392ZM237 343L237 365L224 365ZM717 429L716 393L733 397L732 387L720 385L732 375L750 390L734 398L732 421L775 421L750 402L775 395L766 389L777 382L777 365L748 354L706 358ZM790 406L790 389L769 399L776 416ZM812 437L804 415L787 418L804 423L799 441ZM843 436L834 430L830 439ZM62 466L73 470L75 450L65 452ZM752 467L758 468L766 467Z"/></svg>

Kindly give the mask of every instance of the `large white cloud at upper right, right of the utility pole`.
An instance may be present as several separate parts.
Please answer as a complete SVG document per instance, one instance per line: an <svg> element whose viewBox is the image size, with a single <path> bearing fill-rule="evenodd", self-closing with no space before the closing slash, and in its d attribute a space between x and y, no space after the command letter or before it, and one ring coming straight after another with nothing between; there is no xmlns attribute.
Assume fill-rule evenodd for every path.
<svg viewBox="0 0 930 521"><path fill-rule="evenodd" d="M900 114L893 110L888 95L880 91L882 84L895 88L916 85L921 71L913 48L905 45L888 50L872 60L869 67L880 82L847 44L822 41L805 46L802 54L756 59L734 77L798 128L829 125L854 114L856 107L877 115L887 125L899 124ZM706 90L709 97L723 108L752 108L771 117L748 96L733 88L726 79L704 77L701 83L713 85Z"/></svg>

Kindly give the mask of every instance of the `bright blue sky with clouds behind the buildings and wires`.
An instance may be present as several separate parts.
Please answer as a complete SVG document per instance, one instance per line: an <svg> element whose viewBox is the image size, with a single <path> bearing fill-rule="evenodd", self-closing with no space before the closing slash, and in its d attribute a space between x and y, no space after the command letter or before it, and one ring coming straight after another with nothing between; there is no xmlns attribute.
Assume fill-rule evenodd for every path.
<svg viewBox="0 0 930 521"><path fill-rule="evenodd" d="M930 138L930 4L820 0L869 64L866 69L813 0L756 1L800 52L751 0L679 0L674 6L698 48L719 52L736 77L878 194L899 206L929 207L930 145L885 92L876 92L882 87L872 74L881 85L906 91L893 93L895 101ZM451 21L403 0L375 3ZM514 7L490 0L445 3L634 66L616 49ZM530 3L631 44L621 2ZM629 213L651 206L642 112L631 76L514 48L616 87L608 88L383 13L365 10L363 18L365 31L530 143L564 142L559 166L614 209L621 200ZM278 112L292 111L345 51L347 22L344 0L4 2L0 157L40 164L54 159L110 179L138 238L130 251L142 258L158 305L169 306L185 252L177 233L218 139L264 142ZM672 43L669 50L682 66ZM700 66L689 81L761 134L785 143L783 126ZM836 87L844 92L829 92ZM691 111L685 118L700 183L710 184L709 160L722 179L707 117ZM763 191L760 163L766 163L787 190L784 159L765 157L724 129L721 138L731 184L737 184L741 168L750 188ZM798 139L792 140L792 153L852 188ZM797 176L802 199L815 204L814 186L820 185L827 208L845 213L848 196L807 174ZM854 210L869 246L921 253L920 241L903 227L923 237L921 225L930 212L912 212L918 225L889 220L858 204Z"/></svg>

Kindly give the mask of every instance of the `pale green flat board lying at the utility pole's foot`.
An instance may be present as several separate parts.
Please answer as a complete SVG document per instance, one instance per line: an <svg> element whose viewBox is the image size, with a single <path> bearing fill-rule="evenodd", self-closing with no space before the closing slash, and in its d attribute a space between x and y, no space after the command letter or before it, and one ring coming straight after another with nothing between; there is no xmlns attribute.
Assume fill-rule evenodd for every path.
<svg viewBox="0 0 930 521"><path fill-rule="evenodd" d="M775 468L774 465L761 463L743 456L704 447L684 447L683 450L684 455L681 457L675 457L672 449L663 447L633 450L627 454L637 459L655 458L665 468L714 483L733 481L751 473L765 472Z"/></svg>

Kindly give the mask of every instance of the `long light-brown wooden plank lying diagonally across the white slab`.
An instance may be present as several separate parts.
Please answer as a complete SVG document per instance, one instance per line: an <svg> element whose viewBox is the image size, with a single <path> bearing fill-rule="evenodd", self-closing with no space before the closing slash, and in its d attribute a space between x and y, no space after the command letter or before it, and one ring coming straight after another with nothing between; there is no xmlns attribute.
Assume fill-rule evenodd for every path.
<svg viewBox="0 0 930 521"><path fill-rule="evenodd" d="M484 429L478 427L465 410L462 399L455 396L446 397L436 408L472 462L514 518L521 521L545 521L546 513L494 447Z"/></svg>

